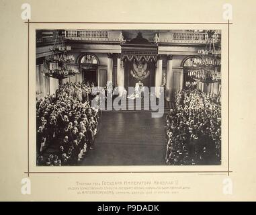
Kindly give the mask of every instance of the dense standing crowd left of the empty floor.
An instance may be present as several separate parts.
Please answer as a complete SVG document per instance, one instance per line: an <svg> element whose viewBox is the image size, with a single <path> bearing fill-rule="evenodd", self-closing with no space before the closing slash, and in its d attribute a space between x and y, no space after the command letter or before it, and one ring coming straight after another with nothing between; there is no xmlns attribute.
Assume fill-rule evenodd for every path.
<svg viewBox="0 0 256 215"><path fill-rule="evenodd" d="M93 150L99 122L99 110L91 107L93 87L88 82L65 83L36 102L37 165L77 165ZM49 146L56 148L50 155Z"/></svg>

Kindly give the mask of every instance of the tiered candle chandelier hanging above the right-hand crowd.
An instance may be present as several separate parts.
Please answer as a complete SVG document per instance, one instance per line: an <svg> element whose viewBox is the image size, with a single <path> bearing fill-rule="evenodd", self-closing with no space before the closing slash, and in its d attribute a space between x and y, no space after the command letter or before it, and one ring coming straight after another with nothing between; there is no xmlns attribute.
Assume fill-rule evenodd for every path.
<svg viewBox="0 0 256 215"><path fill-rule="evenodd" d="M214 38L215 30L208 30L206 47L199 49L198 54L192 58L194 69L189 70L189 76L195 81L203 83L215 83L221 81L221 50L216 46L216 38Z"/></svg>

